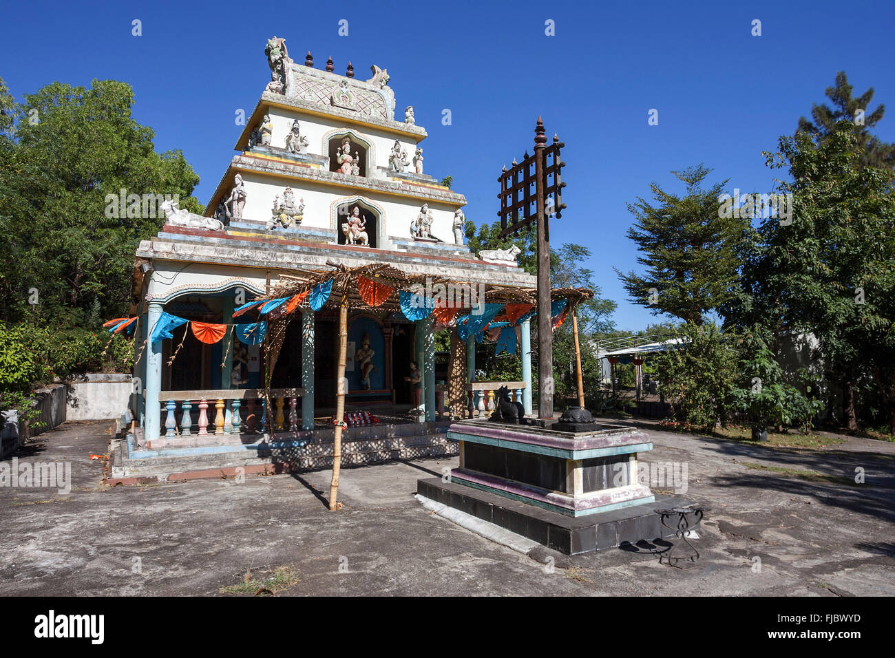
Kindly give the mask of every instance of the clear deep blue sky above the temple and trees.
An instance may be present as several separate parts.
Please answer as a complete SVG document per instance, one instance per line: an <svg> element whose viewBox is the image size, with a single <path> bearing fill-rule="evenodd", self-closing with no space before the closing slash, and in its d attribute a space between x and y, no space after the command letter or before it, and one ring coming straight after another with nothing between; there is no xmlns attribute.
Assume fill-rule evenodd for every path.
<svg viewBox="0 0 895 658"><path fill-rule="evenodd" d="M652 321L626 301L612 267L635 263L626 203L669 171L700 162L729 187L770 191L762 150L795 130L798 117L837 71L858 93L890 107L877 133L895 141L895 5L695 2L278 2L192 4L7 3L0 76L13 95L51 81L127 81L134 115L156 131L159 150L181 149L201 176L203 203L232 158L269 80L266 39L286 38L318 67L348 60L357 77L387 67L398 107L415 108L429 138L426 172L452 175L466 217L497 216L500 167L533 145L543 115L566 142L568 209L551 243L585 244L602 293L618 302L622 329ZM132 36L132 20L142 36ZM337 35L348 21L347 37ZM556 36L544 23L555 21ZM751 22L762 21L753 37ZM449 108L453 124L441 124ZM650 108L659 125L647 124ZM674 188L679 189L679 188Z"/></svg>

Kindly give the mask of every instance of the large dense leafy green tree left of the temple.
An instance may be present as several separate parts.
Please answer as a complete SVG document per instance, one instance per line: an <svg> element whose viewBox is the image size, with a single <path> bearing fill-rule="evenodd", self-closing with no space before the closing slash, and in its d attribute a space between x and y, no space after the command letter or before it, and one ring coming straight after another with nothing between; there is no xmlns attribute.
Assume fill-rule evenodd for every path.
<svg viewBox="0 0 895 658"><path fill-rule="evenodd" d="M180 151L155 150L124 82L54 82L21 105L7 97L0 88L0 128L12 135L0 145L0 319L95 325L124 312L133 253L164 216L158 204L110 216L107 195L177 195L201 211L191 196L199 176Z"/></svg>

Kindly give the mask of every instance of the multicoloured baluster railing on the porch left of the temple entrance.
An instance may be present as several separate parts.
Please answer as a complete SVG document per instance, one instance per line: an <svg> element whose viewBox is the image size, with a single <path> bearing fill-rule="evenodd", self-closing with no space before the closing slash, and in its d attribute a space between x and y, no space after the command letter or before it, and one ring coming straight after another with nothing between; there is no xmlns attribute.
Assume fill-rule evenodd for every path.
<svg viewBox="0 0 895 658"><path fill-rule="evenodd" d="M298 400L303 395L304 389L270 390L275 410L275 417L271 420L276 432L298 431L301 426ZM261 389L162 391L158 394L158 401L165 417L165 437L264 433L267 431L267 404L263 396ZM287 417L284 412L286 405ZM193 408L199 410L195 420Z"/></svg>

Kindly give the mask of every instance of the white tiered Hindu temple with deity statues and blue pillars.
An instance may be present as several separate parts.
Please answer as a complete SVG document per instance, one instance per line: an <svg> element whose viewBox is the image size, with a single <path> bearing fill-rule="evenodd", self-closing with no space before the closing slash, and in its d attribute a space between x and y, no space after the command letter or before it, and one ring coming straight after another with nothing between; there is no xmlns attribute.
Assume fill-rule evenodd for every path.
<svg viewBox="0 0 895 658"><path fill-rule="evenodd" d="M136 252L130 317L110 323L136 330L137 357L115 474L328 466L340 385L349 464L455 454L450 417L487 413L502 384L531 414L535 278L515 249L465 246L466 199L426 173L426 130L397 109L388 72L321 70L277 37L265 54L270 80L204 217L166 204ZM474 381L486 330L520 355L522 381Z"/></svg>

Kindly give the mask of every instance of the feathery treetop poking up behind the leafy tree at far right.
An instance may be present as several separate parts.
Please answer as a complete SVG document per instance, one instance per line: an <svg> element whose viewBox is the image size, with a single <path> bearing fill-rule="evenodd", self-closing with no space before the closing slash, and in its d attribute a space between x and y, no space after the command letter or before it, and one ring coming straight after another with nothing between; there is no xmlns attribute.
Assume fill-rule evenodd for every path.
<svg viewBox="0 0 895 658"><path fill-rule="evenodd" d="M799 117L797 132L826 140L833 132L842 130L848 122L848 130L856 139L856 146L862 150L858 162L862 167L895 167L895 144L881 141L870 132L876 124L882 121L886 108L878 105L870 111L870 103L874 98L874 88L866 90L857 98L852 95L853 87L848 84L848 76L844 71L836 73L836 84L827 87L825 93L830 98L832 106L825 103L814 103L811 108L811 121L804 116Z"/></svg>

